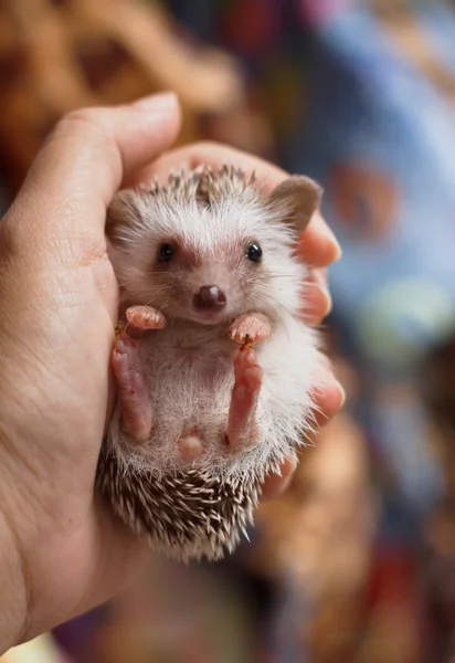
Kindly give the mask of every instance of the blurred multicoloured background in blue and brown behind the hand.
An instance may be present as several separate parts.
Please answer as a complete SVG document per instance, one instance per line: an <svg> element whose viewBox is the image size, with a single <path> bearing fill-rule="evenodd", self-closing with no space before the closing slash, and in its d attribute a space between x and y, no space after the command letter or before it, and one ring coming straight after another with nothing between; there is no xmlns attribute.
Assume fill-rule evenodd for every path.
<svg viewBox="0 0 455 663"><path fill-rule="evenodd" d="M235 556L2 663L455 661L454 45L448 0L1 0L2 210L62 114L176 91L181 143L325 187L348 393Z"/></svg>

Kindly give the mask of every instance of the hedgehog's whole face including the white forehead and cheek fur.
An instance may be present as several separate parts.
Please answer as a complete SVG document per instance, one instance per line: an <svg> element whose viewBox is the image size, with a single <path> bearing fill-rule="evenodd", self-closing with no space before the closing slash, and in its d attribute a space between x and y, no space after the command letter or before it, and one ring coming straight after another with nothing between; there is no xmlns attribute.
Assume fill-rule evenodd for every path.
<svg viewBox="0 0 455 663"><path fill-rule="evenodd" d="M295 180L300 192L303 181L308 190L307 180ZM112 260L128 305L148 304L168 318L216 325L288 304L283 293L286 287L295 293L301 265L293 256L298 233L283 221L284 210L289 215L288 186L284 192L286 200L264 201L246 187L210 204L195 197L123 194Z"/></svg>

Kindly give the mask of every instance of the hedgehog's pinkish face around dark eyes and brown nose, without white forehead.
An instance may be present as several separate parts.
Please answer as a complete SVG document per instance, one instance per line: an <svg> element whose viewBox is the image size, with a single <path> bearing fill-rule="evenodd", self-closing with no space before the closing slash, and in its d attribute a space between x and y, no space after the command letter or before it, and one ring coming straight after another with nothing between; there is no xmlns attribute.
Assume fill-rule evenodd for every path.
<svg viewBox="0 0 455 663"><path fill-rule="evenodd" d="M150 302L167 316L222 323L257 307L269 280L265 249L253 235L213 236L213 244L204 245L172 232L148 246L152 261L140 303Z"/></svg>

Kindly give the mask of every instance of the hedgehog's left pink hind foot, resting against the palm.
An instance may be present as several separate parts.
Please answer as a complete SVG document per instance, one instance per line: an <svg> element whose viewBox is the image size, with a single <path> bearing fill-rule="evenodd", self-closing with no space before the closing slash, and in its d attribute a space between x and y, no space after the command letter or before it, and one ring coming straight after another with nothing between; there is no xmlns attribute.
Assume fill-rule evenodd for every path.
<svg viewBox="0 0 455 663"><path fill-rule="evenodd" d="M140 366L137 345L126 334L115 339L112 367L117 382L126 432L147 440L151 432L151 403Z"/></svg>

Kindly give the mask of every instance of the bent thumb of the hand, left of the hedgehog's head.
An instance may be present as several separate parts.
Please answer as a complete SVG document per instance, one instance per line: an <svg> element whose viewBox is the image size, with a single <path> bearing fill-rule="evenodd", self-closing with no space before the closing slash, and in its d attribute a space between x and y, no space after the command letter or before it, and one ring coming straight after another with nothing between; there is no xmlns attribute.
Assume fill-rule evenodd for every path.
<svg viewBox="0 0 455 663"><path fill-rule="evenodd" d="M179 127L173 94L71 113L45 141L8 214L14 232L42 248L46 235L62 233L99 242L106 207L121 181L167 149Z"/></svg>

